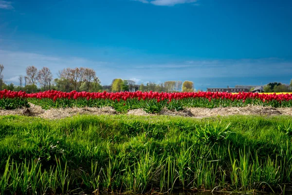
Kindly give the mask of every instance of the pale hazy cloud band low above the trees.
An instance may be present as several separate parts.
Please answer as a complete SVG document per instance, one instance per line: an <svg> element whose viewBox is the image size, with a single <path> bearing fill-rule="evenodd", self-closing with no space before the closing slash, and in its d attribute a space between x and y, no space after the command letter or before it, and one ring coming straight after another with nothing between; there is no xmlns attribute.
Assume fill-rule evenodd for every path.
<svg viewBox="0 0 292 195"><path fill-rule="evenodd" d="M285 59L189 59L180 63L128 64L95 61L79 57L48 56L29 52L0 50L0 63L4 65L4 81L18 84L20 75L25 76L27 66L38 69L46 66L54 78L66 67L89 67L96 71L103 85L110 84L114 78L131 79L136 83L147 81L159 83L166 80L192 80L195 83L210 83L210 86L232 85L230 79L282 78L292 75L292 60ZM260 79L260 78L259 78ZM260 81L260 80L259 80ZM273 81L273 80L271 80ZM278 81L278 80L276 80ZM235 84L240 84L234 81ZM246 81L247 83L249 80ZM282 81L286 82L286 81ZM290 79L287 80L290 82ZM220 84L220 85L221 85ZM253 84L253 83L250 83ZM204 84L205 86L206 84Z"/></svg>

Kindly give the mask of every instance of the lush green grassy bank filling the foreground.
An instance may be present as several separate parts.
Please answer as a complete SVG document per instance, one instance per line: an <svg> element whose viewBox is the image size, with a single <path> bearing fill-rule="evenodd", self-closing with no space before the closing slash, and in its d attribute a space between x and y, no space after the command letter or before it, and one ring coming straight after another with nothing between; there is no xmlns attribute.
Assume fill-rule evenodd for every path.
<svg viewBox="0 0 292 195"><path fill-rule="evenodd" d="M1 194L292 184L292 117L0 117Z"/></svg>

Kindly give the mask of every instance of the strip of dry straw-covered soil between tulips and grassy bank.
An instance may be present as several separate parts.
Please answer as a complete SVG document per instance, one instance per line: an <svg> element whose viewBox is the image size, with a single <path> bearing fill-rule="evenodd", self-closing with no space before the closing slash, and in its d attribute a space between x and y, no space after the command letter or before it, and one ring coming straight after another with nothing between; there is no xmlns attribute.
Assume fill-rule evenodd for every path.
<svg viewBox="0 0 292 195"><path fill-rule="evenodd" d="M75 115L117 115L118 113L111 107L104 108L57 108L44 110L40 106L30 103L30 108L15 110L0 110L0 116L4 115L26 115L41 118L65 118ZM154 116L146 113L143 109L129 110L127 115L135 116ZM246 107L220 107L220 108L187 108L182 111L170 111L164 108L159 115L182 116L182 117L214 117L227 115L289 115L292 116L292 108L273 108L263 106L246 106Z"/></svg>

